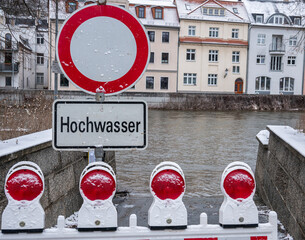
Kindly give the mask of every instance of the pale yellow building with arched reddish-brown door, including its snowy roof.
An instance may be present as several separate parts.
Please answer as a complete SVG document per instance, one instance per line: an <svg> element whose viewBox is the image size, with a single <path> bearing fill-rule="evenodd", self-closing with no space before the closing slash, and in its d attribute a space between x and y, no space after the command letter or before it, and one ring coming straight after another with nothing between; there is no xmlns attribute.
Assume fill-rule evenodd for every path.
<svg viewBox="0 0 305 240"><path fill-rule="evenodd" d="M240 1L176 0L178 92L244 93L249 19Z"/></svg>

